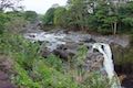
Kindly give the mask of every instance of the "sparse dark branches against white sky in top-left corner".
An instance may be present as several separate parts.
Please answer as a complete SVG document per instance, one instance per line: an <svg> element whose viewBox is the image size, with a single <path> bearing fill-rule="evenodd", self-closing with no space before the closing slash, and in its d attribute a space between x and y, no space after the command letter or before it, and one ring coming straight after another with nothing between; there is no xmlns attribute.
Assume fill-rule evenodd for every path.
<svg viewBox="0 0 133 88"><path fill-rule="evenodd" d="M0 0L0 11L6 9L22 9L22 6L19 6L19 2L22 0Z"/></svg>

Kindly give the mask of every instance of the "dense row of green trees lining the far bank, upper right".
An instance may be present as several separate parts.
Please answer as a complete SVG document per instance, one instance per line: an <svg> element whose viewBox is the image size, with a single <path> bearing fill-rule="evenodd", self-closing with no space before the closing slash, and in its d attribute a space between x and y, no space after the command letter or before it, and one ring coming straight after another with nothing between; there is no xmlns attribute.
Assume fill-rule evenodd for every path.
<svg viewBox="0 0 133 88"><path fill-rule="evenodd" d="M130 33L133 30L133 1L116 1L69 0L65 7L50 8L43 23L89 32Z"/></svg>

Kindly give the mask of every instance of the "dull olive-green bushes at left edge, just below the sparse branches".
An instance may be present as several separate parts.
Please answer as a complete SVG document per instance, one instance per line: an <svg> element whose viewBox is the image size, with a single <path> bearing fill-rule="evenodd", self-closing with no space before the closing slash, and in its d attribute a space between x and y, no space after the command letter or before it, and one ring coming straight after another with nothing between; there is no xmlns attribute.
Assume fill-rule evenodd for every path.
<svg viewBox="0 0 133 88"><path fill-rule="evenodd" d="M24 20L24 15L21 12L7 12L0 13L0 33L11 32L20 33L24 31L24 26L29 23Z"/></svg>

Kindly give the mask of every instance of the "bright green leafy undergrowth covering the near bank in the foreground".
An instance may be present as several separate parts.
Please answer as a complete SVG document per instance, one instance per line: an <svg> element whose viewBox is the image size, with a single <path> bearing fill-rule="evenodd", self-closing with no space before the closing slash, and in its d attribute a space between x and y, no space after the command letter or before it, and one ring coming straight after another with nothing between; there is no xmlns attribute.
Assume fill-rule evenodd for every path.
<svg viewBox="0 0 133 88"><path fill-rule="evenodd" d="M85 77L83 82L75 80L76 72L81 70L79 66L83 65L86 55L86 47L81 46L75 56L78 69L73 69L73 75L68 69L63 69L63 62L50 55L42 58L39 54L39 44L24 40L21 35L2 34L0 36L0 53L10 56L13 62L12 82L20 88L104 88L101 82L93 82ZM79 63L78 63L79 62ZM65 72L63 72L65 70ZM85 70L84 70L85 72ZM84 76L83 76L84 77ZM99 77L98 77L99 78ZM88 80L86 80L88 79ZM91 81L90 84L88 81ZM95 85L95 82L96 85ZM99 84L99 85L98 85ZM105 84L102 84L105 85ZM101 86L101 87L100 87Z"/></svg>

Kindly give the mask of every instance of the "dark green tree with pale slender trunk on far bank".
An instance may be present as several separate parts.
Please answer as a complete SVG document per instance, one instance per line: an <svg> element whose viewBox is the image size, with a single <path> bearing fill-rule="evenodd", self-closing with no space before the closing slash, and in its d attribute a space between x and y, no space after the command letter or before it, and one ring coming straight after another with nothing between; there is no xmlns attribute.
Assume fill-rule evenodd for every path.
<svg viewBox="0 0 133 88"><path fill-rule="evenodd" d="M115 35L119 29L120 23L120 14L119 14L119 8L121 6L120 2L114 3L113 1L104 1L104 0L96 0L95 1L95 8L94 8L94 14L92 19L93 23L96 24L94 26L98 26L98 32L111 32ZM96 22L96 23L94 23Z"/></svg>

